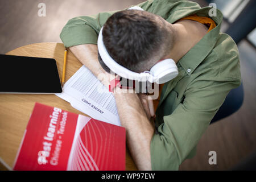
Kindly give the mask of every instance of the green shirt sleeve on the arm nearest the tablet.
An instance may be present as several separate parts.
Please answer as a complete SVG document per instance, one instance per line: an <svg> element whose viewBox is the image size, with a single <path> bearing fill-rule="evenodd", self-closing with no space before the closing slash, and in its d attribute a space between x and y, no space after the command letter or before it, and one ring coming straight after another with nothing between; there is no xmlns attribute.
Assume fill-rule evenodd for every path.
<svg viewBox="0 0 256 182"><path fill-rule="evenodd" d="M152 1L140 3L139 7L147 10ZM118 10L121 11L121 10ZM117 11L99 13L92 16L78 16L72 18L65 24L60 33L60 39L65 47L77 46L81 44L97 44L98 33L106 20Z"/></svg>

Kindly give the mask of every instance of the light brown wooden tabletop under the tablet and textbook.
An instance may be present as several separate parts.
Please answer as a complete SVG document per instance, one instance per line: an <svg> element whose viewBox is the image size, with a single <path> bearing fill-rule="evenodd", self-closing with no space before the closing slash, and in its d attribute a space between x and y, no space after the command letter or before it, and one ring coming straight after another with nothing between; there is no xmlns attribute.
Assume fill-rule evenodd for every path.
<svg viewBox="0 0 256 182"><path fill-rule="evenodd" d="M6 54L53 58L56 60L59 76L62 77L64 46L61 43L30 44L16 48ZM81 66L80 61L71 51L68 51L65 81ZM74 109L68 102L55 96L55 94L0 94L0 162L3 160L11 168L14 166L14 160L35 102L86 115ZM0 165L1 169L5 168ZM126 150L126 170L136 169L129 151Z"/></svg>

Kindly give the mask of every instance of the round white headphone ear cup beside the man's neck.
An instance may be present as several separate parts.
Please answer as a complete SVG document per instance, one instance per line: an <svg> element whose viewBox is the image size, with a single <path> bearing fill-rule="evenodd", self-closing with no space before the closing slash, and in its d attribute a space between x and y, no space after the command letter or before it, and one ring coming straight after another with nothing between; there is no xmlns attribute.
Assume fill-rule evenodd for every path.
<svg viewBox="0 0 256 182"><path fill-rule="evenodd" d="M175 78L178 75L177 65L172 59L165 59L156 63L151 69L151 74L157 84L163 84Z"/></svg>

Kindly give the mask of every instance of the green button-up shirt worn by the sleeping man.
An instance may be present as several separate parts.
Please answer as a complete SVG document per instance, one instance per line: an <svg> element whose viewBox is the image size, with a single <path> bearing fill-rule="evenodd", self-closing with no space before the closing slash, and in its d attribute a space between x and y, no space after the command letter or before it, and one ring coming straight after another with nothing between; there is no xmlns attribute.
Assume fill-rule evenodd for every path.
<svg viewBox="0 0 256 182"><path fill-rule="evenodd" d="M175 0L150 0L138 6L170 23L192 14L209 17L211 9ZM97 44L100 28L115 12L69 20L60 34L64 46ZM237 46L220 32L222 13L217 10L217 16L210 18L217 26L179 60L179 75L164 84L156 110L158 132L151 140L153 170L179 169L185 159L194 156L197 143L229 91L241 84Z"/></svg>

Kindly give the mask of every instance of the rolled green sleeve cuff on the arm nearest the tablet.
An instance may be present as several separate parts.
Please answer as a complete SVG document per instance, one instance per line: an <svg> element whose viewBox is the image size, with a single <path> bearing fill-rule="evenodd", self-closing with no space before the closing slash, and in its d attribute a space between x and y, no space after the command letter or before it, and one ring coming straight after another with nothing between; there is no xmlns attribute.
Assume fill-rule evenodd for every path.
<svg viewBox="0 0 256 182"><path fill-rule="evenodd" d="M87 24L64 27L60 39L65 47L81 44L97 44L98 34Z"/></svg>

